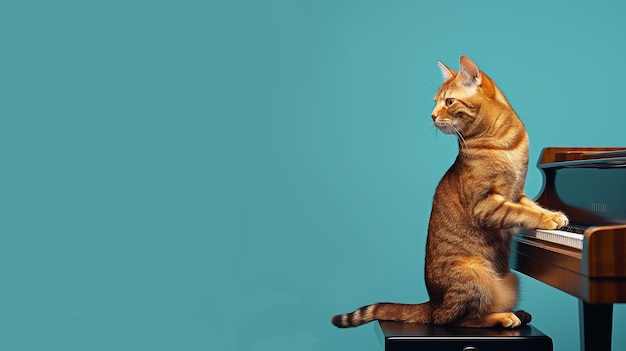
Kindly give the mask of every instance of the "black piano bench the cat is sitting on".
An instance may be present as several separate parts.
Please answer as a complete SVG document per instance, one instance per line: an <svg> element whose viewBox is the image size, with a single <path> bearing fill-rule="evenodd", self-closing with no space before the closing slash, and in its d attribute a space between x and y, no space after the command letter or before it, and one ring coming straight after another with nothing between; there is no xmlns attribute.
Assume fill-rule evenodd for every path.
<svg viewBox="0 0 626 351"><path fill-rule="evenodd" d="M375 328L385 351L552 351L552 339L532 325L479 329L379 322Z"/></svg>

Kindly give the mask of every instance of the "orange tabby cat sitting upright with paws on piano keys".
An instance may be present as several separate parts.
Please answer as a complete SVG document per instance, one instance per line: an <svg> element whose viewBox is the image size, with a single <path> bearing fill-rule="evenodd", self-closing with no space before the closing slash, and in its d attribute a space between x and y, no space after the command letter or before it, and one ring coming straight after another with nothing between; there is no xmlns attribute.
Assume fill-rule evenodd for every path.
<svg viewBox="0 0 626 351"><path fill-rule="evenodd" d="M425 281L430 301L378 303L334 316L340 328L373 320L466 327L514 328L530 314L513 311L517 278L509 270L515 228L556 229L561 212L546 210L524 194L528 135L495 83L469 58L444 77L432 119L459 140L459 154L433 201L426 243Z"/></svg>

